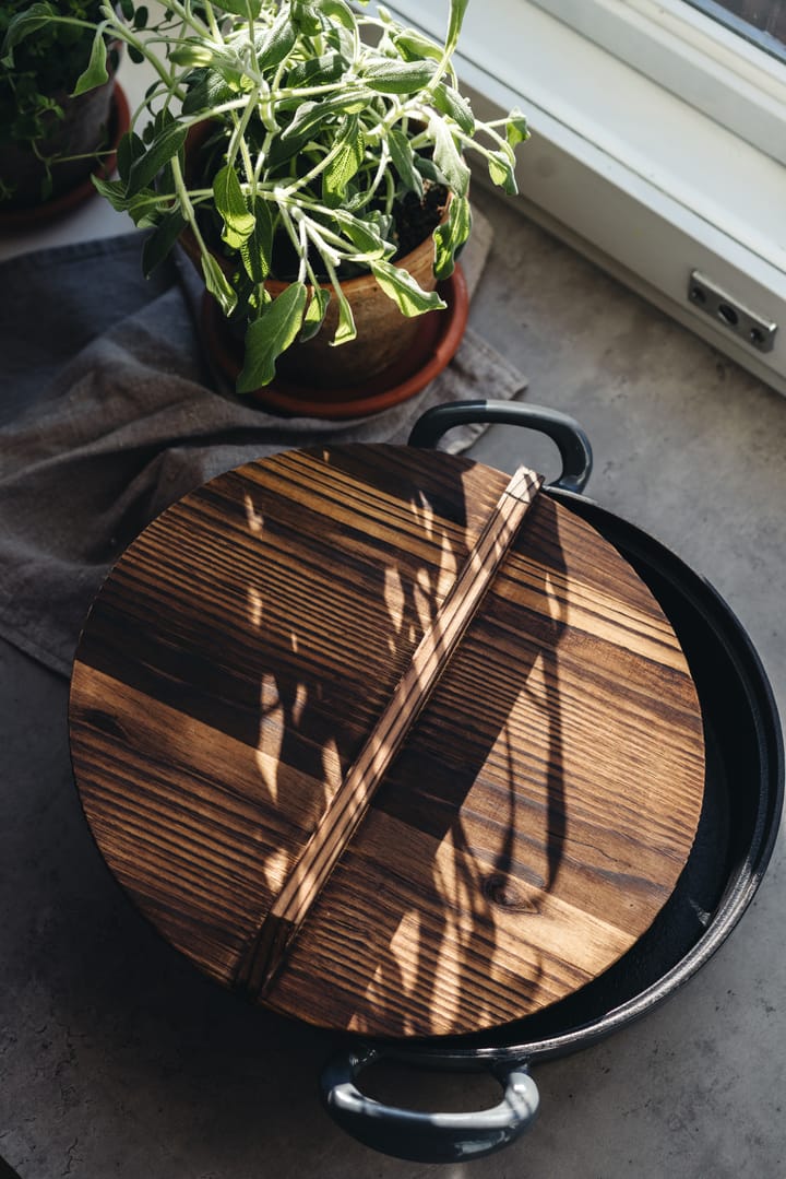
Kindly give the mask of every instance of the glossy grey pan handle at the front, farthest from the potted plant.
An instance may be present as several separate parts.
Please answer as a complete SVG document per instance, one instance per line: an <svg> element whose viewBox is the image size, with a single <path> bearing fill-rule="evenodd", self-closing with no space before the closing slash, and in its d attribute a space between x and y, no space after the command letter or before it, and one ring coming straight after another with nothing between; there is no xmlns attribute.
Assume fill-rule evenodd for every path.
<svg viewBox="0 0 786 1179"><path fill-rule="evenodd" d="M377 1048L338 1053L322 1073L322 1100L333 1121L375 1151L416 1162L462 1162L508 1146L537 1115L537 1086L522 1062L491 1065L503 1087L498 1105L471 1113L420 1113L383 1105L358 1088L359 1074L384 1059Z"/></svg>

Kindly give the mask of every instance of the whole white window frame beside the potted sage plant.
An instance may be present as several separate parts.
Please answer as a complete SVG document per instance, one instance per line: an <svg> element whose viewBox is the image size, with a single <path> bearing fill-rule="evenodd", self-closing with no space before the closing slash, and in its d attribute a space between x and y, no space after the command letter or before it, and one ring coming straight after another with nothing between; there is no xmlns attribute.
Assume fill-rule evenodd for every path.
<svg viewBox="0 0 786 1179"><path fill-rule="evenodd" d="M387 6L443 32L447 5ZM528 117L523 211L786 394L786 67L680 0L473 0L456 65L480 116ZM772 351L689 302L693 270Z"/></svg>

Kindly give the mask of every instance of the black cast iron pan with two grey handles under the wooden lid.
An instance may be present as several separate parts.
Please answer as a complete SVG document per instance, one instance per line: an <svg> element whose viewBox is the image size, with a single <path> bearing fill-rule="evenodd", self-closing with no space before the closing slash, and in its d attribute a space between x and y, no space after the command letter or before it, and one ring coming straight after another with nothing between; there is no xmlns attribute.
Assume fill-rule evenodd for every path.
<svg viewBox="0 0 786 1179"><path fill-rule="evenodd" d="M530 1066L589 1047L671 997L722 944L770 861L784 796L784 749L766 674L722 598L663 545L580 493L592 470L581 427L534 406L474 401L423 415L410 444L431 447L454 426L506 422L551 437L563 470L548 494L592 523L634 566L680 639L699 693L706 739L705 803L678 887L647 934L613 968L535 1015L468 1036L348 1040L322 1076L324 1105L349 1134L398 1158L469 1160L510 1144L539 1107ZM471 1113L416 1113L364 1095L361 1073L395 1059L428 1068L488 1071L504 1093Z"/></svg>

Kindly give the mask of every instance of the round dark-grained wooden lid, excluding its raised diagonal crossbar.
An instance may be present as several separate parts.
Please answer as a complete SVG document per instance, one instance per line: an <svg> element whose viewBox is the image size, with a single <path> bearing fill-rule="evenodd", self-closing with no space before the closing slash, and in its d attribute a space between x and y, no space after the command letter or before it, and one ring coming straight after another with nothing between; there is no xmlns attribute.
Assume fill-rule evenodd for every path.
<svg viewBox="0 0 786 1179"><path fill-rule="evenodd" d="M392 446L290 450L151 523L85 626L77 785L113 874L202 970L383 1036L473 1032L612 966L668 900L704 792L674 632L536 496L266 989L288 874L508 476Z"/></svg>

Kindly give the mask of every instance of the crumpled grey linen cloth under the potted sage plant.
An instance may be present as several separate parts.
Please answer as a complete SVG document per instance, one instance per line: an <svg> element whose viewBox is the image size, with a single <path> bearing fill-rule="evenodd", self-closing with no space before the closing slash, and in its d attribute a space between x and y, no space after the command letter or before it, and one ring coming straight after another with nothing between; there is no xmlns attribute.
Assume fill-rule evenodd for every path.
<svg viewBox="0 0 786 1179"><path fill-rule="evenodd" d="M476 220L462 259L486 259ZM423 393L370 417L282 417L216 390L200 354L189 263L140 275L138 233L0 266L0 634L70 676L110 567L164 508L209 479L319 442L405 443L430 406L510 399L526 381L468 330ZM451 432L463 449L477 429Z"/></svg>

